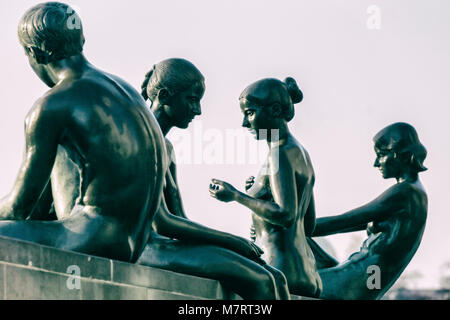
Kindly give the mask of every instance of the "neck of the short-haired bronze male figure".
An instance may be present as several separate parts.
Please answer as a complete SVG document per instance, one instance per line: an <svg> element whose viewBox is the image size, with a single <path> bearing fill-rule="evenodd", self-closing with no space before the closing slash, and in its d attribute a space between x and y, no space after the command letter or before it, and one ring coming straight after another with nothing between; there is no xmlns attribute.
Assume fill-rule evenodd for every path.
<svg viewBox="0 0 450 320"><path fill-rule="evenodd" d="M90 63L82 53L48 64L49 75L56 84L79 77L88 67Z"/></svg>

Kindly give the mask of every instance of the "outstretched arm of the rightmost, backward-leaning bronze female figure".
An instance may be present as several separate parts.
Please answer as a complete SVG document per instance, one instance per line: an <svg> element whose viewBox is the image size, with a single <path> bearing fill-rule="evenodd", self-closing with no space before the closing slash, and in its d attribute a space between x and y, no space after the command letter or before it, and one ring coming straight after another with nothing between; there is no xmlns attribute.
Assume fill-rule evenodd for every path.
<svg viewBox="0 0 450 320"><path fill-rule="evenodd" d="M375 200L344 214L318 218L314 237L336 233L364 230L372 221L382 221L404 211L406 192L404 187L394 185Z"/></svg>

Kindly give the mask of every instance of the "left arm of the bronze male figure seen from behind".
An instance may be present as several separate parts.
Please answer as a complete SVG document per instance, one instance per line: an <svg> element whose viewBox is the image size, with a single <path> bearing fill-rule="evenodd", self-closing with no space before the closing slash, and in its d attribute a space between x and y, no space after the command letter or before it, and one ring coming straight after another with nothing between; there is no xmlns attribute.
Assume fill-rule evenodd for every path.
<svg viewBox="0 0 450 320"><path fill-rule="evenodd" d="M50 179L61 119L44 99L25 120L25 155L13 190L0 202L0 220L23 220L33 211Z"/></svg>

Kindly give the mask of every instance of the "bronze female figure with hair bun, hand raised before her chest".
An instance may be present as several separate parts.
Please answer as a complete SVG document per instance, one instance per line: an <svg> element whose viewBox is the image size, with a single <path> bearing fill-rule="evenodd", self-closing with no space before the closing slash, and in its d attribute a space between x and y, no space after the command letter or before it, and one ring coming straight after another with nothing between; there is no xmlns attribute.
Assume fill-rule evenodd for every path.
<svg viewBox="0 0 450 320"><path fill-rule="evenodd" d="M253 237L262 258L282 271L291 293L318 297L321 281L306 237L315 224L314 170L308 152L289 132L294 103L303 99L292 78L260 80L244 90L239 101L242 126L266 140L269 154L256 181L247 181L247 194L213 179L212 197L236 201L252 213Z"/></svg>

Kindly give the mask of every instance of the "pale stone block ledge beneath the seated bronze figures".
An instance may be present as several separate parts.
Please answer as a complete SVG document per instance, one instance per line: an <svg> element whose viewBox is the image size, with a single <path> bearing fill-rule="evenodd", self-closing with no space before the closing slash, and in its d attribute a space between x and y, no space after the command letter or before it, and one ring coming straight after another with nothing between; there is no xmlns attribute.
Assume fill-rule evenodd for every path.
<svg viewBox="0 0 450 320"><path fill-rule="evenodd" d="M80 288L69 289L80 270ZM68 273L69 272L69 273ZM234 300L218 281L0 237L0 299Z"/></svg>

